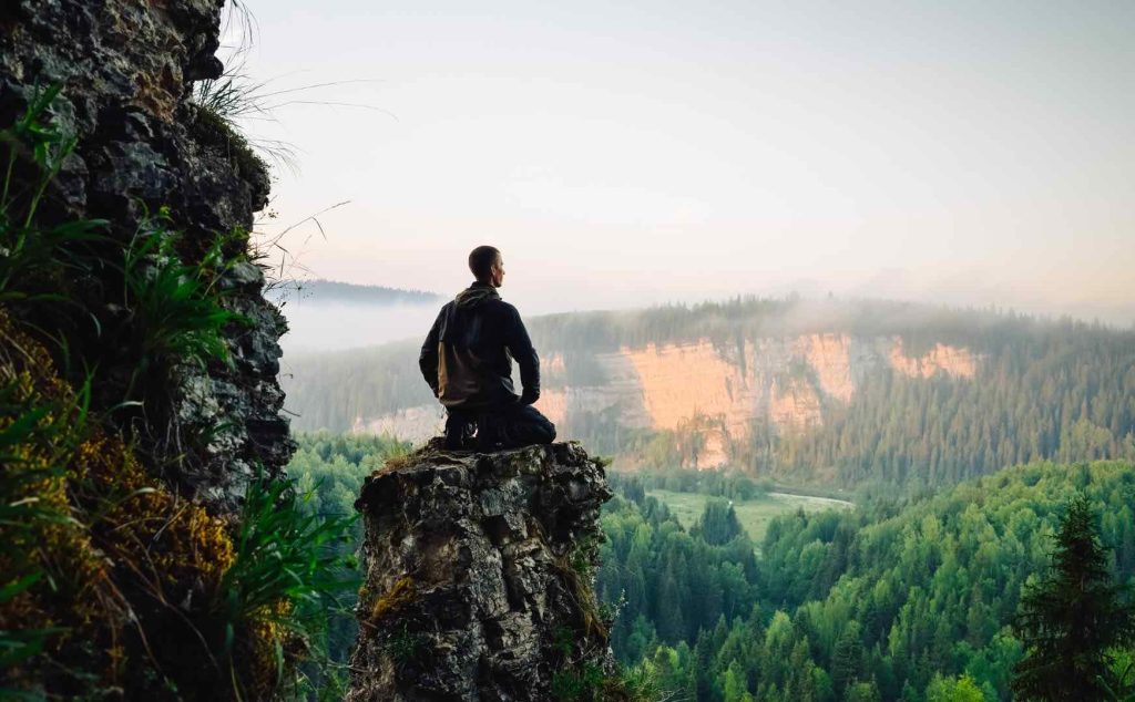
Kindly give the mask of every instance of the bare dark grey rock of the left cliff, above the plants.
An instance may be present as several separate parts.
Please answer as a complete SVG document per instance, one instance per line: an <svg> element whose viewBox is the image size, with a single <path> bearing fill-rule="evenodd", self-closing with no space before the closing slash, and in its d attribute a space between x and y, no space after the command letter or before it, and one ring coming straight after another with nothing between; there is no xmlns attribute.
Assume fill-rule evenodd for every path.
<svg viewBox="0 0 1135 702"><path fill-rule="evenodd" d="M255 465L278 473L293 451L276 381L277 339L286 325L261 296L262 272L246 256L253 213L267 203L268 172L222 120L188 100L192 82L221 75L213 53L222 6L14 0L0 9L0 125L25 113L36 91L59 85L51 111L76 138L41 220L107 220L116 243L109 256L117 253L119 263L114 247L125 249L162 208L169 228L180 232L177 252L187 262L200 261L217 235L225 236L222 253L235 263L216 282L224 304L247 320L225 332L232 363L176 369L163 387L151 389L162 395L160 408L123 418L163 480L218 511L235 506ZM72 353L98 354L96 408L120 404L116 380L133 372L106 348L108 330L123 322L116 274L106 267L76 286L94 324L86 320L68 331Z"/></svg>

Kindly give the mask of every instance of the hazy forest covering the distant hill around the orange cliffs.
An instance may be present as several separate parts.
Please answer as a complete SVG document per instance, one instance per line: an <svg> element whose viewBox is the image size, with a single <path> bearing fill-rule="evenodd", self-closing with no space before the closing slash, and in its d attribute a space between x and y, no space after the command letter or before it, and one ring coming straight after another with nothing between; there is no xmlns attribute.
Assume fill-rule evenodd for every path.
<svg viewBox="0 0 1135 702"><path fill-rule="evenodd" d="M821 426L787 431L755 421L729 447L731 467L777 482L913 493L1039 459L1135 459L1135 331L993 311L793 299L556 314L529 327L545 357L564 358L545 373L545 388L602 386L598 353L699 338L734 356L747 339L812 332L898 336L910 354L941 342L980 356L970 380L876 367L849 404L825 403ZM431 405L417 356L411 340L291 360L284 383L296 426L347 430L359 416ZM674 431L630 429L621 412L573 411L560 433L592 451L669 468L688 464L699 437L720 423L695 416Z"/></svg>

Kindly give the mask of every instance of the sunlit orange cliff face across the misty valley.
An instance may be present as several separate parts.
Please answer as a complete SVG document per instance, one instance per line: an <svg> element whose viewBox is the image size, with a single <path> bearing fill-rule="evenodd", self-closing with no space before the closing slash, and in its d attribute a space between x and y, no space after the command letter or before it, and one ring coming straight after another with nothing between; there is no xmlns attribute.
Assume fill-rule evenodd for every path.
<svg viewBox="0 0 1135 702"><path fill-rule="evenodd" d="M730 458L731 441L747 439L753 422L781 432L824 423L831 408L846 406L873 373L928 379L941 373L972 380L980 358L968 348L936 344L910 353L899 337L812 333L746 339L721 347L709 339L623 347L594 358L603 383L556 383L563 357L545 361L545 390L537 407L561 428L591 414L628 429L681 431L699 426L701 450L692 467L714 467ZM562 372L558 373L562 375ZM437 432L436 405L407 407L371 418L355 431L422 439Z"/></svg>

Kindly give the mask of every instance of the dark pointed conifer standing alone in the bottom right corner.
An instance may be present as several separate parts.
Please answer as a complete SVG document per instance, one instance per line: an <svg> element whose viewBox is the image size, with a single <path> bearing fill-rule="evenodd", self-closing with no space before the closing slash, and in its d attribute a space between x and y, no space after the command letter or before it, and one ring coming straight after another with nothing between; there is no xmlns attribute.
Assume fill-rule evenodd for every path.
<svg viewBox="0 0 1135 702"><path fill-rule="evenodd" d="M1109 650L1135 636L1135 617L1111 582L1107 550L1085 494L1068 501L1051 575L1020 600L1026 653L1012 691L1026 700L1102 700L1111 685Z"/></svg>

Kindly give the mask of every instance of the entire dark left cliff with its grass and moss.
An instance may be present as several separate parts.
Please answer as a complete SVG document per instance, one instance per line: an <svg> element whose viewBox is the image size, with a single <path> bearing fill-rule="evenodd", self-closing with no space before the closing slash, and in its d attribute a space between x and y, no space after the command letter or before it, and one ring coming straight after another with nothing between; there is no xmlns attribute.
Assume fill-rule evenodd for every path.
<svg viewBox="0 0 1135 702"><path fill-rule="evenodd" d="M293 603L252 599L242 574L268 549L241 539L238 514L255 466L279 476L294 450L285 323L249 240L269 178L190 100L221 75L222 6L0 6L5 692L270 699L288 684Z"/></svg>

